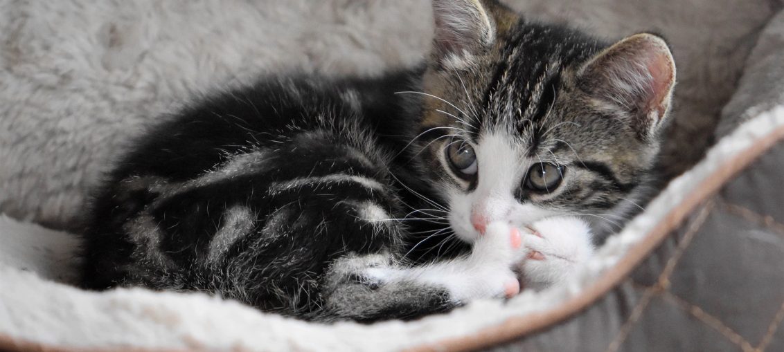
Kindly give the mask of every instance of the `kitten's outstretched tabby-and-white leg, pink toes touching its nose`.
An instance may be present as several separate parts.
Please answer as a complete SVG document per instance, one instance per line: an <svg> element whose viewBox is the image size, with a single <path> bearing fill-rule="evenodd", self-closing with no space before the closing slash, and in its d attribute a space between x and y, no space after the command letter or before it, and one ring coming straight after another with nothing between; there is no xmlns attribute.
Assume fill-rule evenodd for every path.
<svg viewBox="0 0 784 352"><path fill-rule="evenodd" d="M531 235L492 223L469 255L417 267L402 266L389 253L343 257L326 275L325 316L416 318L471 300L514 296L521 288L514 266L530 261L524 259L531 253L523 246L524 237Z"/></svg>

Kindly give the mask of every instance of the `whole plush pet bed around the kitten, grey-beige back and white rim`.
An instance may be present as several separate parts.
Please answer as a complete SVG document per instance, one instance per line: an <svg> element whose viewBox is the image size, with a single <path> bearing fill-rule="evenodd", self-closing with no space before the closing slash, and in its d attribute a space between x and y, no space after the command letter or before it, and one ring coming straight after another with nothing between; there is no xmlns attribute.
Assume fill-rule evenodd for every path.
<svg viewBox="0 0 784 352"><path fill-rule="evenodd" d="M0 0L0 350L784 350L784 3L517 1L609 38L662 33L680 174L572 282L375 325L220 297L85 292L89 187L145 122L260 72L416 62L429 3ZM705 153L707 147L713 145Z"/></svg>

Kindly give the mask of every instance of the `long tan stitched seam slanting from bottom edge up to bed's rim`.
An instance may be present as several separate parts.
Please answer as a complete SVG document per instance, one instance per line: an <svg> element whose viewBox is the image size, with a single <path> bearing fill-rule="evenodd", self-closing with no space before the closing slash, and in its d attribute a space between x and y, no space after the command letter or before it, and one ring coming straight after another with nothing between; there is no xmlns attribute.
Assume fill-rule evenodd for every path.
<svg viewBox="0 0 784 352"><path fill-rule="evenodd" d="M645 290L643 296L640 299L640 302L634 306L631 314L629 314L629 318L624 321L618 334L615 335L615 338L612 339L612 342L608 345L606 352L616 352L621 347L621 344L626 341L626 338L629 336L631 329L633 329L634 325L637 325L637 322L640 320L640 317L642 316L645 308L647 308L648 304L651 303L653 296L655 296L656 293L660 293L661 291L664 291L670 287L670 275L672 275L678 260L681 260L684 251L689 245L691 245L691 239L694 239L694 236L697 234L699 229L702 228L703 224L705 224L705 221L708 218L708 214L710 214L710 211L713 210L714 205L714 199L710 199L708 203L702 207L702 210L699 210L699 214L695 220L689 224L688 230L684 234L681 243L678 243L678 246L675 249L675 253L673 253L670 259L667 260L667 264L665 265L664 269L662 269L662 273L659 275L659 278L656 280L656 285Z"/></svg>

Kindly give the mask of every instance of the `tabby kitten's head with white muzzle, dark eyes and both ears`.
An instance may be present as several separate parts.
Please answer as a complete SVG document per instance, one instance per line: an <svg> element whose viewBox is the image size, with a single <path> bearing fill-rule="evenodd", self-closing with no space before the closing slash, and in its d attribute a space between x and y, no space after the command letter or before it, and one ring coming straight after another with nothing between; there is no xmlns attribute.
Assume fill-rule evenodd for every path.
<svg viewBox="0 0 784 352"><path fill-rule="evenodd" d="M495 1L434 0L419 155L464 240L492 221L609 214L659 151L675 66L661 38L604 45Z"/></svg>

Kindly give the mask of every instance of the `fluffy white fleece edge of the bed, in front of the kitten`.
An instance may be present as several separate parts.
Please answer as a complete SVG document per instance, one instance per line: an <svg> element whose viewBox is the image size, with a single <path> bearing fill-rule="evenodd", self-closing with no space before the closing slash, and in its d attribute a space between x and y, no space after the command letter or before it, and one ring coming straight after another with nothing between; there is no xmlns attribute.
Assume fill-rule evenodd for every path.
<svg viewBox="0 0 784 352"><path fill-rule="evenodd" d="M80 348L146 347L162 350L332 351L401 350L441 339L465 336L507 318L544 311L579 294L680 203L706 176L749 148L774 128L784 126L784 106L742 124L711 149L701 163L673 181L648 210L597 251L572 282L541 293L526 292L503 304L482 300L450 314L420 321L359 325L308 324L263 314L234 301L197 293L154 293L114 289L88 293L45 278L62 277L53 266L70 253L67 235L0 218L0 238L20 246L0 250L0 334L49 346ZM10 241L6 236L12 234ZM13 234L38 236L55 253L38 260L14 259L28 241ZM60 238L60 240L51 240ZM60 246L60 247L55 247ZM43 253L43 252L41 252ZM20 253L26 257L26 253ZM10 259L9 259L10 258ZM16 268L30 268L43 276Z"/></svg>

